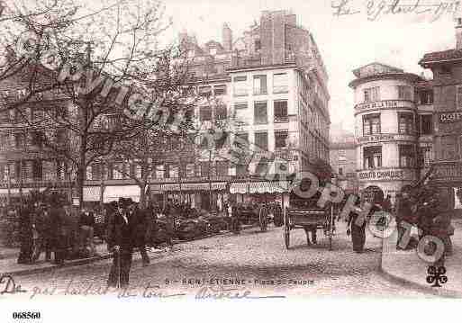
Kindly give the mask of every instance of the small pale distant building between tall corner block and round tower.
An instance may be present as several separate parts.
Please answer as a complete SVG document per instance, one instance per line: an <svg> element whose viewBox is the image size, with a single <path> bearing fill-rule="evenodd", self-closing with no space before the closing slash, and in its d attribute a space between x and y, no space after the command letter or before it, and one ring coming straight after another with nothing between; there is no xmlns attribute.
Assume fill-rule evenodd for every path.
<svg viewBox="0 0 462 323"><path fill-rule="evenodd" d="M330 159L332 173L336 175L337 185L345 193L358 193L356 174L356 139L353 133L341 131L341 136L331 136Z"/></svg>

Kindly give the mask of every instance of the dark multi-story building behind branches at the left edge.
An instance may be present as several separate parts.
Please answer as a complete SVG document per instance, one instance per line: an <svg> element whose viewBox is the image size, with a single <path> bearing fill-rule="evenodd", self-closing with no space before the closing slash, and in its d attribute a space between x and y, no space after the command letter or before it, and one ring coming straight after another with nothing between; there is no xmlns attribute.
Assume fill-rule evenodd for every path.
<svg viewBox="0 0 462 323"><path fill-rule="evenodd" d="M2 80L0 88L0 201L17 200L33 190L54 186L70 190L70 168L65 160L50 154L43 145L44 131L54 131L53 136L64 142L62 131L31 127L34 121L43 119L50 109L67 110L68 101L59 91L37 94L21 108L13 109L21 102L28 87L27 77L21 73Z"/></svg>

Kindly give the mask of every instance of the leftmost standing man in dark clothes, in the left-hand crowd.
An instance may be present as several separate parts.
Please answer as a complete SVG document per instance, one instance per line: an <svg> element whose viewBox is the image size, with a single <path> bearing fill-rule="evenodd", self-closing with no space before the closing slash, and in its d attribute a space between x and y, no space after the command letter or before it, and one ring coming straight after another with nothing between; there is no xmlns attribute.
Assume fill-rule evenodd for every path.
<svg viewBox="0 0 462 323"><path fill-rule="evenodd" d="M33 204L29 201L19 209L21 249L18 256L18 264L32 263L32 213Z"/></svg>

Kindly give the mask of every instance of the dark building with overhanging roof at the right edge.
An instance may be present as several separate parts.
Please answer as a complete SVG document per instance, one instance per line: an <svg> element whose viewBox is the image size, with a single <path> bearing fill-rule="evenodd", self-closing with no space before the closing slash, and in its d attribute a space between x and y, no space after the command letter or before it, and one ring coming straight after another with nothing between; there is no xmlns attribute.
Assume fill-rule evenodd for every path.
<svg viewBox="0 0 462 323"><path fill-rule="evenodd" d="M433 72L437 115L433 123L435 171L431 180L454 202L454 193L462 192L462 18L457 19L456 47L427 53L419 64Z"/></svg>

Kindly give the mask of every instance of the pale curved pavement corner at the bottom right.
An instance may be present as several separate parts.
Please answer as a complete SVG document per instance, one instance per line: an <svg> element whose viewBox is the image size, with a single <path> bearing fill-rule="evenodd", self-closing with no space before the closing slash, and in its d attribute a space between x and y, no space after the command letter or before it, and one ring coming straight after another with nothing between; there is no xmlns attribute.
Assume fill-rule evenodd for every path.
<svg viewBox="0 0 462 323"><path fill-rule="evenodd" d="M441 287L432 287L433 283L427 283L429 263L418 256L417 251L396 250L397 232L384 239L382 251L382 271L397 283L402 283L422 292L443 296L462 298L462 220L454 219L454 236L451 237L453 255L446 257L445 267L447 283L440 283ZM393 228L395 224L393 223Z"/></svg>

